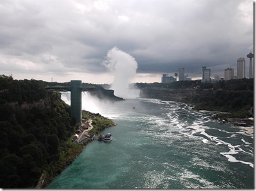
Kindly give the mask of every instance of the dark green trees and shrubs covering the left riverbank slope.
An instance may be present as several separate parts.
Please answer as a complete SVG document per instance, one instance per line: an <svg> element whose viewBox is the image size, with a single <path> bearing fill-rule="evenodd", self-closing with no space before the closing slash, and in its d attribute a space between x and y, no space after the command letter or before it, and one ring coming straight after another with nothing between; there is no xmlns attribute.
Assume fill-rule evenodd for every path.
<svg viewBox="0 0 256 191"><path fill-rule="evenodd" d="M1 75L0 103L1 188L35 188L42 175L44 187L88 142L72 142L78 126L70 124L70 106L42 81ZM90 115L94 132L113 125L99 114Z"/></svg>

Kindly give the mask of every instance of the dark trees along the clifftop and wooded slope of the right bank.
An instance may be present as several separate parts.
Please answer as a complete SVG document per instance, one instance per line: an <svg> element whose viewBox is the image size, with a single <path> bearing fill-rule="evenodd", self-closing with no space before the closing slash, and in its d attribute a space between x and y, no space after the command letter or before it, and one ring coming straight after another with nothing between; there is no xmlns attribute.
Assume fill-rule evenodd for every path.
<svg viewBox="0 0 256 191"><path fill-rule="evenodd" d="M184 97L182 101L193 104L197 110L227 112L216 114L216 118L226 120L253 116L253 78L221 80L215 83L191 80L172 83L136 83L136 85L139 89L191 90L193 94Z"/></svg>

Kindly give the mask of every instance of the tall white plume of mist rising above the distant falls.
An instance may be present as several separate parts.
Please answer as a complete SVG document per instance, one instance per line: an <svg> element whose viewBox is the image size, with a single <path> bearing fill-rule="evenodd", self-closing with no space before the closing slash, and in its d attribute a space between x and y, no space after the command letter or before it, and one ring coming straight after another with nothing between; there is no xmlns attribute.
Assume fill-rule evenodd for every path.
<svg viewBox="0 0 256 191"><path fill-rule="evenodd" d="M136 60L130 54L113 47L106 54L103 65L114 75L111 89L115 91L115 95L123 98L138 97L139 90L129 89L129 83L135 77L138 68Z"/></svg>

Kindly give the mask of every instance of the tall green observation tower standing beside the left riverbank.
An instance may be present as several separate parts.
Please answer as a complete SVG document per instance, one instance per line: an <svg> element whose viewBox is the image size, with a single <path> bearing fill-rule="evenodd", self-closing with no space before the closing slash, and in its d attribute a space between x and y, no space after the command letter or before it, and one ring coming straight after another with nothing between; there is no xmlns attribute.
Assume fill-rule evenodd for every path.
<svg viewBox="0 0 256 191"><path fill-rule="evenodd" d="M71 95L70 95L70 114L71 120L75 123L81 123L82 119L82 91L80 89L82 85L81 80L71 80Z"/></svg>

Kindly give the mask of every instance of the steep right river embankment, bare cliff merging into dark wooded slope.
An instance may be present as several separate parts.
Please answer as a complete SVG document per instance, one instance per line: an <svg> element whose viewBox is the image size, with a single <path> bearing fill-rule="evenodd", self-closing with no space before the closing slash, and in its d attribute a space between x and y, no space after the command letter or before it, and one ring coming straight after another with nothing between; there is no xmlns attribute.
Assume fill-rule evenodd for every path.
<svg viewBox="0 0 256 191"><path fill-rule="evenodd" d="M252 90L143 88L140 97L186 102L195 105L195 109L198 110L230 113L216 115L216 118L225 120L227 118L253 117Z"/></svg>

